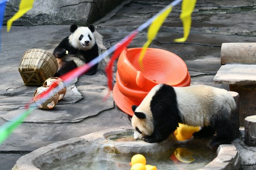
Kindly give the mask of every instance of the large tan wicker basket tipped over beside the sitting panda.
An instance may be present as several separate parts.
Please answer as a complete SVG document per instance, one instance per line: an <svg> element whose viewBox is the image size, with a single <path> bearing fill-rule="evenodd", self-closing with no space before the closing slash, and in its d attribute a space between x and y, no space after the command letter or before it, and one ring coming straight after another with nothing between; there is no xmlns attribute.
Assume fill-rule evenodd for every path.
<svg viewBox="0 0 256 170"><path fill-rule="evenodd" d="M25 85L43 85L57 72L58 62L48 51L33 48L24 53L18 70Z"/></svg>

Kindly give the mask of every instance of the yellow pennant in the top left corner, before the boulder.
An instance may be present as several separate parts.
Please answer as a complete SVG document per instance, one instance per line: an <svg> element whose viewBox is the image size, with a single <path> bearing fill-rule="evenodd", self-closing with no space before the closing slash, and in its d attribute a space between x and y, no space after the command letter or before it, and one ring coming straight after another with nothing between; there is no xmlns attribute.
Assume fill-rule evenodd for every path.
<svg viewBox="0 0 256 170"><path fill-rule="evenodd" d="M32 9L33 7L34 0L20 0L20 6L19 6L19 11L7 21L7 32L10 31L12 22L19 19L24 15L27 11Z"/></svg>

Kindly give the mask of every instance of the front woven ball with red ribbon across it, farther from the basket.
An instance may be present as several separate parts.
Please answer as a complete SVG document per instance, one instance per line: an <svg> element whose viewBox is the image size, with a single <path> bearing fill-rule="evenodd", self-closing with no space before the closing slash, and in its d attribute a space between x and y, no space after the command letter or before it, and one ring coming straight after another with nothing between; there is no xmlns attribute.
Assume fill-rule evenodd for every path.
<svg viewBox="0 0 256 170"><path fill-rule="evenodd" d="M47 95L47 100L46 101L41 101L44 99L44 95L46 92L48 92ZM57 103L58 103L58 91L55 88L51 88L49 86L41 86L36 89L34 93L33 100L35 102L35 105L38 106L38 108L44 109L44 110L49 110L54 108Z"/></svg>

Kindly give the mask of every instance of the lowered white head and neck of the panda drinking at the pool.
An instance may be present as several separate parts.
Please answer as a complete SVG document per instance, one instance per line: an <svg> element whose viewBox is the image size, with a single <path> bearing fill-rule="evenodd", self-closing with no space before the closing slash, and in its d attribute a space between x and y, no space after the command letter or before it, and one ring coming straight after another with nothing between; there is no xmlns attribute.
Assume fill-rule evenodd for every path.
<svg viewBox="0 0 256 170"><path fill-rule="evenodd" d="M154 119L150 103L159 88L161 85L154 86L139 106L132 106L134 115L131 119L131 125L134 128L134 139L143 139L144 136L151 136L154 132Z"/></svg>

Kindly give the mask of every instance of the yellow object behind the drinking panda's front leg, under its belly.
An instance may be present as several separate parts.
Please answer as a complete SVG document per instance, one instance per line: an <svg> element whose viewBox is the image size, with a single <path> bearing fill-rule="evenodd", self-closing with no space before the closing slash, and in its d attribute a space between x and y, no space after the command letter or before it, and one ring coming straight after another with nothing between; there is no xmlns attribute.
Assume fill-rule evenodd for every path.
<svg viewBox="0 0 256 170"><path fill-rule="evenodd" d="M190 139L193 136L193 133L199 130L200 128L198 126L188 126L179 123L179 127L174 131L174 136L177 140L184 141Z"/></svg>

